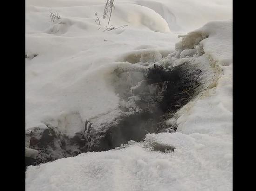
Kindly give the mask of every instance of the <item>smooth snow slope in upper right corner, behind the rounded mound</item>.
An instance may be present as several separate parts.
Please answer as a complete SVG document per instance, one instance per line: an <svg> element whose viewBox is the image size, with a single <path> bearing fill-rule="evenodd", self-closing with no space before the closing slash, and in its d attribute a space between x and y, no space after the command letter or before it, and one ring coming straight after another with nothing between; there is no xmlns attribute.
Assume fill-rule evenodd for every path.
<svg viewBox="0 0 256 191"><path fill-rule="evenodd" d="M176 32L189 32L209 21L232 19L232 0L137 0L152 8ZM163 5L163 6L162 6Z"/></svg>

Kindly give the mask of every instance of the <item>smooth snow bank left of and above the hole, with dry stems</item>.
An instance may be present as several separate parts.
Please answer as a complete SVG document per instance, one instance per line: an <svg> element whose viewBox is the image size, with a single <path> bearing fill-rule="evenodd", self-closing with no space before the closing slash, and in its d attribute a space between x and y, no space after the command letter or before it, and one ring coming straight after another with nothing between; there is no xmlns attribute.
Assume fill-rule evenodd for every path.
<svg viewBox="0 0 256 191"><path fill-rule="evenodd" d="M53 2L64 6L67 1ZM147 35L152 31L170 32L158 13L135 4L116 5L111 24L132 28L113 31L103 27L108 22L102 19L104 4L54 9L40 7L35 1L26 4L26 128L49 121L61 124L68 118L76 132L87 119L115 110L119 97L110 79L119 61L124 61L120 55L145 42L157 41L158 36L151 35L137 45L129 38L141 29L146 29ZM61 19L51 22L50 12L58 13ZM101 26L95 22L96 12ZM144 56L144 60L150 58ZM66 131L70 132L68 126Z"/></svg>

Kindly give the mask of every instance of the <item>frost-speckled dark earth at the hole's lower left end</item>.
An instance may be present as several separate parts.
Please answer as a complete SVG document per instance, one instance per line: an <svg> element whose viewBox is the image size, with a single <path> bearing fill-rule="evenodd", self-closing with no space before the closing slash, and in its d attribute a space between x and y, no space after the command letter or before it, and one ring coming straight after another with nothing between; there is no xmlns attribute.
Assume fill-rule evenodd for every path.
<svg viewBox="0 0 256 191"><path fill-rule="evenodd" d="M29 165L52 162L63 157L77 156L87 152L84 150L85 140L82 133L77 133L74 137L69 138L57 134L51 126L46 129L35 127L32 131L29 148L38 151L38 155L34 158L25 157L25 168ZM75 150L73 150L74 148Z"/></svg>

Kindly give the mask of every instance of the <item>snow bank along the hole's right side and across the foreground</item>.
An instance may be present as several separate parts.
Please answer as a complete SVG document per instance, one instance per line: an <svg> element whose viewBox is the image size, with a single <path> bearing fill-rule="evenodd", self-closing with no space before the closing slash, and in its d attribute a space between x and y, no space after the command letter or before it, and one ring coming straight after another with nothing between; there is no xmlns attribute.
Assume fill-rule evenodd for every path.
<svg viewBox="0 0 256 191"><path fill-rule="evenodd" d="M216 31L209 30L213 26ZM232 63L220 65L222 57L216 54L222 50L222 46L216 46L216 40L227 37L230 27L232 21L208 23L183 37L184 50L201 43L207 53L175 58L174 64L186 60L201 64L205 70L202 80L206 81L207 71L216 71L216 76L210 76L216 79L216 84L206 84L202 94L177 113L176 121L169 120L178 125L176 133L147 134L141 143L130 141L115 150L82 153L29 166L26 190L40 187L50 191L84 188L88 191L231 191ZM202 34L207 35L202 38ZM226 47L230 47L231 38L228 39L224 41ZM177 55L182 52L179 45ZM211 45L215 47L212 50ZM232 60L230 50L222 50L229 61ZM174 151L155 150L155 144L169 146Z"/></svg>

